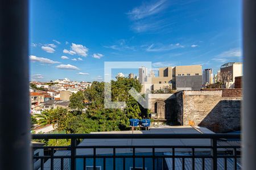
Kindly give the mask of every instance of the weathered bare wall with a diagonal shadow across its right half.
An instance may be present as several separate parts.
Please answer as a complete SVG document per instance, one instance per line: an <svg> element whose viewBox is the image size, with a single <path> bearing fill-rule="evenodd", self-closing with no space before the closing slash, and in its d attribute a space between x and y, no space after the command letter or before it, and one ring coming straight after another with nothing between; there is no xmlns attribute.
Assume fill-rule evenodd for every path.
<svg viewBox="0 0 256 170"><path fill-rule="evenodd" d="M217 133L240 129L241 98L224 98L222 91L180 91L176 100L181 125L193 122Z"/></svg>

